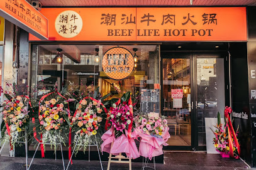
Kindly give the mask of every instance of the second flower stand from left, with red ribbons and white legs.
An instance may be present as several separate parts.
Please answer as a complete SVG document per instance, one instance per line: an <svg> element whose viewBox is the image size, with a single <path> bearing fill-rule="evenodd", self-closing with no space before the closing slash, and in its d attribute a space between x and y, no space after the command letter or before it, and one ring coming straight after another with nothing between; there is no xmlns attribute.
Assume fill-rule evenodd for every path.
<svg viewBox="0 0 256 170"><path fill-rule="evenodd" d="M62 150L62 142L65 141L64 137L63 137L63 131L65 130L65 127L69 124L69 117L70 117L70 110L69 110L69 102L67 100L67 107L68 109L65 109L64 104L60 103L57 104L57 102L60 102L60 100L58 100L59 98L57 98L57 100L55 98L52 98L50 100L44 100L46 97L48 97L49 95L55 95L55 96L59 96L62 99L67 100L67 98L65 98L64 96L62 96L60 93L58 93L57 91L52 92L52 93L48 93L47 95L44 95L42 98L40 98L39 100L39 112L38 112L38 119L40 122L40 129L43 130L40 134L40 140L36 137L36 127L33 127L33 134L34 137L36 139L36 141L38 142L38 145L36 147L35 153L31 159L30 162L30 166L28 167L28 170L30 169L32 162L35 158L35 154L36 151L38 151L38 147L40 146L41 149L41 154L42 157L45 157L45 145L50 145L50 146L54 146L55 149L55 160L57 160L57 146L60 146L60 152L62 154L62 164L63 164L63 169L65 170L65 163L64 163L64 155L63 155L63 150ZM65 101L64 101L65 102ZM41 103L44 103L43 105L40 105ZM43 113L41 115L41 113ZM66 116L68 114L68 117ZM35 118L32 118L32 122L33 124L35 124ZM62 130L61 130L62 129ZM69 128L69 146L71 145L71 141L70 141L70 128ZM60 134L62 133L62 135ZM65 134L65 133L64 133ZM50 138L51 137L51 138ZM69 154L70 154L70 147L69 147Z"/></svg>

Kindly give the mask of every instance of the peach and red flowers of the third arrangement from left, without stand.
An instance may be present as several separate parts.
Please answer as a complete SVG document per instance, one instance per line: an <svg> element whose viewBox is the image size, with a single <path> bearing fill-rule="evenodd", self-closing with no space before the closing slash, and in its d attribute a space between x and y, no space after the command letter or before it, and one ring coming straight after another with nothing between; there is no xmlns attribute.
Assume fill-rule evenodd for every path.
<svg viewBox="0 0 256 170"><path fill-rule="evenodd" d="M88 144L100 139L100 137L96 138L96 134L98 134L99 128L101 127L103 114L105 114L105 110L101 100L87 97L79 102L71 122L72 130L75 131L74 141L77 141L77 147L75 147L76 153L82 146L84 146L83 149L86 151ZM92 136L95 137L92 138Z"/></svg>

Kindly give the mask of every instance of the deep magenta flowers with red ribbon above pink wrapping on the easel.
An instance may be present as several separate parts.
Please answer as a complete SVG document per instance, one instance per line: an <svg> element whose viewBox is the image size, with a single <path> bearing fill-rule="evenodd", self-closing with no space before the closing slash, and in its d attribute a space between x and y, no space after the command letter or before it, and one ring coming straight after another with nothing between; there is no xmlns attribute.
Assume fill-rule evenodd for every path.
<svg viewBox="0 0 256 170"><path fill-rule="evenodd" d="M109 120L109 126L114 128L115 137L126 134L125 130L129 129L131 123L132 127L135 127L132 113L133 105L127 100L130 100L130 92L125 93L118 102L110 107L109 117L107 119Z"/></svg>

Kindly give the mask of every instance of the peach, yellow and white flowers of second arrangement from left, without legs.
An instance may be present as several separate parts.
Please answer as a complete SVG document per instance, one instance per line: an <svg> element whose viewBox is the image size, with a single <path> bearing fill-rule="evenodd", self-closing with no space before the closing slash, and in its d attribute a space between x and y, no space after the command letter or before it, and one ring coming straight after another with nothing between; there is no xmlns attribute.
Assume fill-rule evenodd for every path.
<svg viewBox="0 0 256 170"><path fill-rule="evenodd" d="M55 144L58 141L65 144L65 134L69 132L70 123L69 109L65 109L63 99L58 96L40 101L38 118L43 142Z"/></svg>

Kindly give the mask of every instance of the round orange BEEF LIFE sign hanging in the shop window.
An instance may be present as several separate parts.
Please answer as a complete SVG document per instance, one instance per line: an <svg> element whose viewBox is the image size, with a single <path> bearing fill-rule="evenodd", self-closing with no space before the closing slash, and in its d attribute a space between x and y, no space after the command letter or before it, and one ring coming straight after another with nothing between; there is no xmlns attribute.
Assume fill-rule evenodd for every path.
<svg viewBox="0 0 256 170"><path fill-rule="evenodd" d="M122 80L133 72L133 68L133 55L125 48L111 48L103 56L103 71L109 78Z"/></svg>

